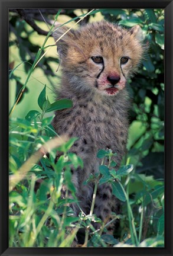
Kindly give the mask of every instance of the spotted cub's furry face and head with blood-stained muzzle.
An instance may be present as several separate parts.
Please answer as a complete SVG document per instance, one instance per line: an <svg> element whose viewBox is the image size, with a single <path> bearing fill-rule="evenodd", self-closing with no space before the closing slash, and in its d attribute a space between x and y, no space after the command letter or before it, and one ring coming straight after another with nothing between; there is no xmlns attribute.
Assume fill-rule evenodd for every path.
<svg viewBox="0 0 173 256"><path fill-rule="evenodd" d="M67 31L54 32L57 41ZM136 71L145 47L139 25L126 30L101 21L70 30L57 41L64 79L78 94L99 93L108 97L125 88Z"/></svg>

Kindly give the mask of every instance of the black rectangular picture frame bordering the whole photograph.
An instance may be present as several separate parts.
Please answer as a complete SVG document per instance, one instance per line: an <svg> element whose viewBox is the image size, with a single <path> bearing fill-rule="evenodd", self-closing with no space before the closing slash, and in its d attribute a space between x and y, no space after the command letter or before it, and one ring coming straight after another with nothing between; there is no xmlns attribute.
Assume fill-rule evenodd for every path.
<svg viewBox="0 0 173 256"><path fill-rule="evenodd" d="M0 255L172 255L172 62L173 1L8 1L1 5L0 86ZM165 9L165 247L164 248L8 248L8 9L9 8L164 8Z"/></svg>

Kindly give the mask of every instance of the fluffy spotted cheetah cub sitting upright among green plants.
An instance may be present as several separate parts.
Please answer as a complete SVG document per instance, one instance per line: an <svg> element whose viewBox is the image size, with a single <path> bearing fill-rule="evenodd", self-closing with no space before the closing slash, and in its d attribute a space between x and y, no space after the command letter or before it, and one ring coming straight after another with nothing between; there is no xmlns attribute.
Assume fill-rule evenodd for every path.
<svg viewBox="0 0 173 256"><path fill-rule="evenodd" d="M54 32L57 39L67 31ZM61 58L61 87L58 98L73 101L73 107L56 112L53 126L58 133L78 137L71 151L83 159L84 168L71 170L80 207L90 213L94 184L84 185L90 174L98 172L99 149L110 148L117 153L120 166L128 137L129 98L126 82L136 72L143 52L143 36L139 25L126 30L101 21L70 30L58 42ZM79 207L74 204L74 212ZM97 189L94 213L102 220L116 212L117 199L110 184ZM95 228L99 228L96 224Z"/></svg>

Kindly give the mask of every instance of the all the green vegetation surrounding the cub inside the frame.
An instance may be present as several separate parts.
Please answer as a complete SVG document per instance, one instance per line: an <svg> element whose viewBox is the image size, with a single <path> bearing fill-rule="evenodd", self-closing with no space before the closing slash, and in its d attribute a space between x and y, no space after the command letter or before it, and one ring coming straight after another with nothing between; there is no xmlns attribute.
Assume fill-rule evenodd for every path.
<svg viewBox="0 0 173 256"><path fill-rule="evenodd" d="M70 165L83 167L83 162L68 151L77 138L58 137L51 126L53 111L73 104L53 100L59 82L54 25L103 18L126 28L141 25L149 46L141 69L129 81L133 104L122 167L116 172L112 151L100 149L100 173L86 181L94 180L94 194L99 184L111 183L122 201L121 214L114 213L113 220L120 220L114 236L107 234L110 223L93 215L94 196L90 215L73 215L69 204L77 199ZM84 228L83 247L164 247L164 10L12 9L9 60L9 246L70 247ZM57 149L62 155L56 161ZM68 190L61 199L64 184ZM93 222L100 222L99 231Z"/></svg>

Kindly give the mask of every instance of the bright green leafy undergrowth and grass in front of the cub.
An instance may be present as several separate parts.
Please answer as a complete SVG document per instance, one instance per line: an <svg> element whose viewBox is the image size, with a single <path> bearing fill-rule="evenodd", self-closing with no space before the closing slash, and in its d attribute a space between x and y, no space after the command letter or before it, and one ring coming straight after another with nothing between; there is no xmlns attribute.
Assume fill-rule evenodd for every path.
<svg viewBox="0 0 173 256"><path fill-rule="evenodd" d="M118 171L112 161L115 155L111 149L100 149L97 158L102 159L99 173L90 175L86 183L94 182L94 194L90 214L82 210L74 216L70 204L78 203L76 189L71 182L71 165L76 169L83 167L82 160L74 153L68 152L77 138L58 137L51 121L54 115L45 117L52 110L71 107L70 100L59 100L50 104L45 97L45 88L38 97L41 111L30 111L25 119L10 120L10 183L9 183L9 245L11 247L69 247L80 228L86 229L83 247L112 246L163 246L164 245L164 184L163 181L149 183L135 174L133 165L127 164ZM52 139L52 138L55 139ZM51 142L50 143L50 139ZM56 161L56 153L62 155ZM48 153L48 155L47 155ZM33 154L36 156L33 161ZM109 165L105 165L105 158ZM129 185L134 181L142 183L143 190L129 196ZM108 235L110 223L102 222L93 214L97 187L100 184L112 184L112 193L123 202L122 215L113 214L112 223L122 220L120 237ZM61 189L66 185L66 199L61 199ZM72 198L68 198L70 192ZM79 204L79 203L78 203ZM80 207L80 206L79 206ZM148 217L147 212L152 209ZM155 209L155 211L154 211ZM156 214L162 212L157 217ZM94 230L92 223L99 222L101 228ZM156 236L142 237L146 228L155 225ZM66 234L68 228L73 232ZM102 234L104 232L104 234ZM151 231L147 231L151 232ZM147 233L146 232L146 233ZM154 232L154 231L152 231ZM122 236L123 235L123 236ZM153 233L151 233L153 235Z"/></svg>

